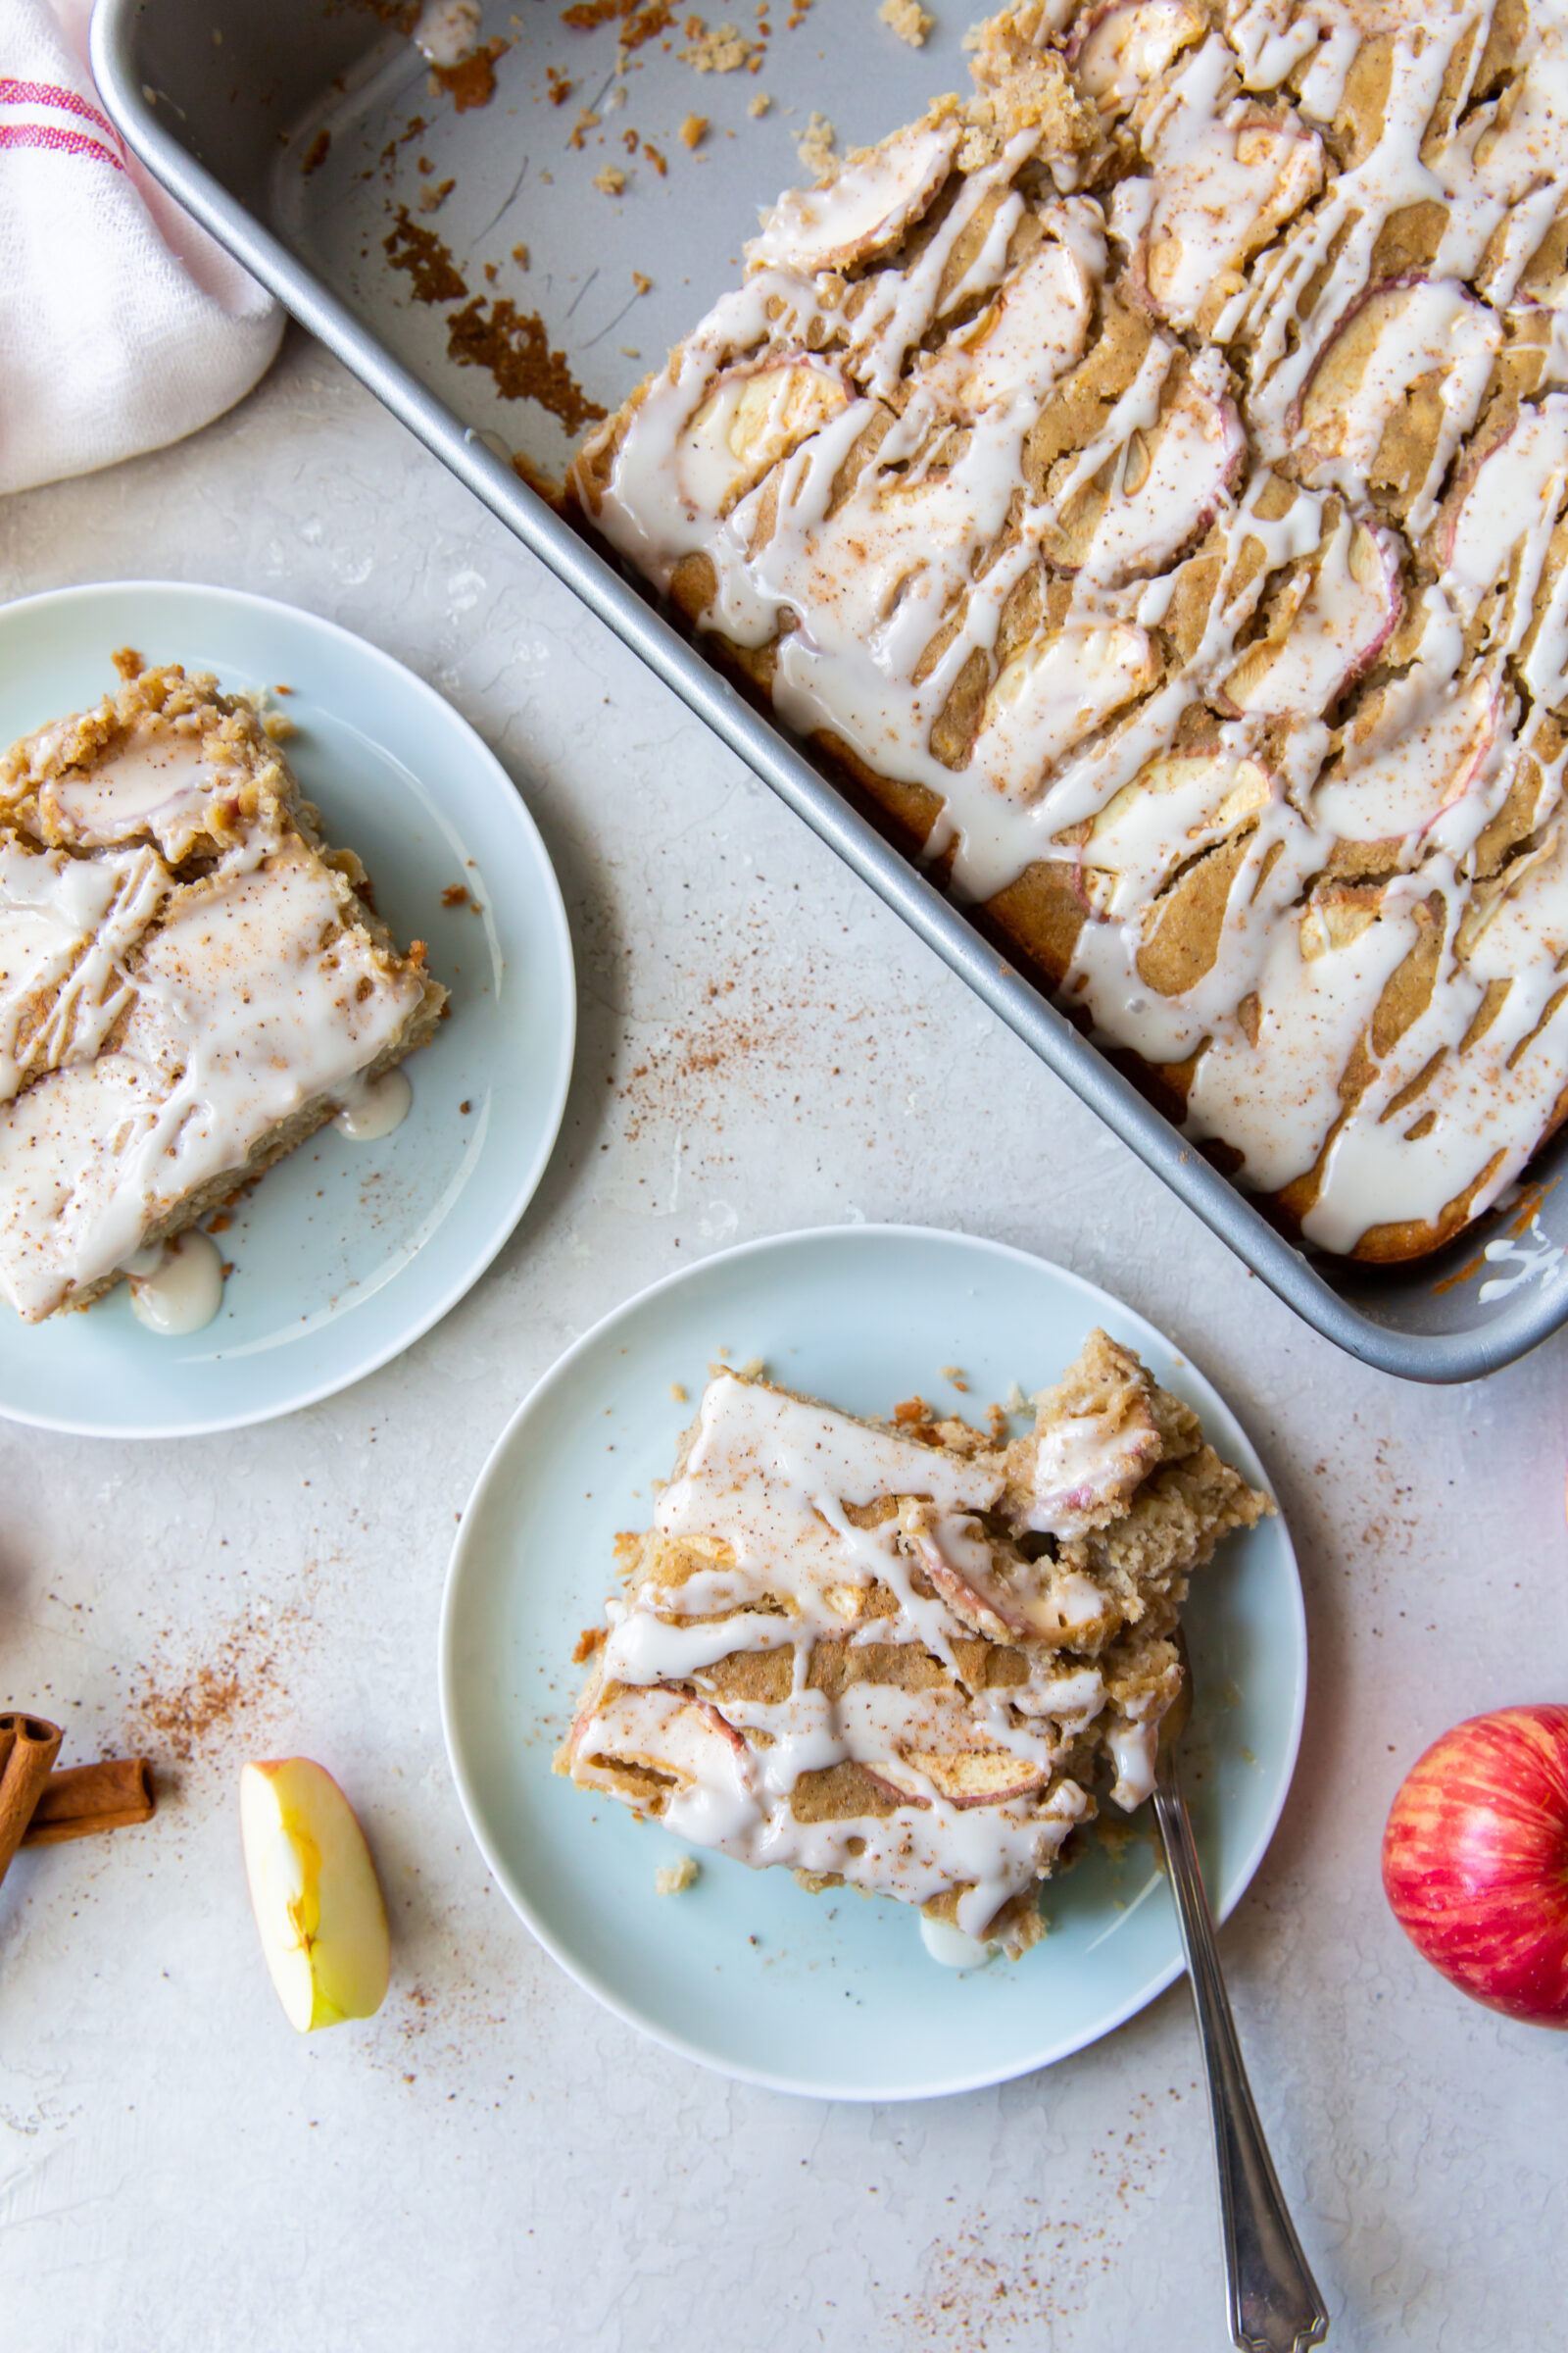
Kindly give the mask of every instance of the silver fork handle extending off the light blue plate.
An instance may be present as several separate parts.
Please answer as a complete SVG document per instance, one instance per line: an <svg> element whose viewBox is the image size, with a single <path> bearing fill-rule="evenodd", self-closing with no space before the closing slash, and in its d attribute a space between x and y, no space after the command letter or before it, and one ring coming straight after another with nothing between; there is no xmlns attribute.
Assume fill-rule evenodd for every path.
<svg viewBox="0 0 1568 2353"><path fill-rule="evenodd" d="M1328 2308L1307 2268L1262 2139L1225 1995L1187 1800L1164 1758L1154 1781L1154 1814L1166 1842L1208 2075L1232 2344L1241 2353L1305 2353L1328 2334Z"/></svg>

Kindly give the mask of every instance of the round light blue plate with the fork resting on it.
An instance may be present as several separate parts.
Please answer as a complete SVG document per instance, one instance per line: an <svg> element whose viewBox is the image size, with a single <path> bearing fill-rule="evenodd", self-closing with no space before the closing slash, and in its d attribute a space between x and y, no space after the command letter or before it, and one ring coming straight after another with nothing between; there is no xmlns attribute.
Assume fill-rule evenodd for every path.
<svg viewBox="0 0 1568 2353"><path fill-rule="evenodd" d="M632 2026L745 2082L818 2099L929 2099L1004 2082L1119 2026L1180 1969L1175 1913L1145 1835L1098 1842L1046 1892L1023 1962L954 1974L912 1911L783 1871L682 1852L550 1772L602 1619L616 1529L644 1527L719 1351L851 1412L919 1391L976 1419L1011 1384L1053 1381L1105 1325L1204 1417L1255 1482L1237 1419L1168 1341L1044 1259L919 1226L750 1242L670 1275L588 1332L512 1417L463 1513L442 1614L442 1715L458 1795L501 1887L548 1953ZM959 1367L959 1395L940 1367ZM1023 1424L1018 1424L1023 1428ZM1295 1553L1279 1520L1232 1537L1187 1609L1199 1706L1182 1779L1208 1887L1227 1913L1269 1842L1307 1697ZM1143 1831L1147 1814L1133 1817ZM1152 1828L1152 1824L1147 1824Z"/></svg>

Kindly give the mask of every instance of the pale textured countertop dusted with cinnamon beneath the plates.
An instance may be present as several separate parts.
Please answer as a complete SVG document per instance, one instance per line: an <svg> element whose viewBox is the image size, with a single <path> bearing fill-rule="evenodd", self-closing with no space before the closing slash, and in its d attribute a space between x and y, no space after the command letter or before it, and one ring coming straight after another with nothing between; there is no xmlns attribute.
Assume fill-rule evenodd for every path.
<svg viewBox="0 0 1568 2353"><path fill-rule="evenodd" d="M1568 1341L1420 1391L1298 1325L303 336L197 440L0 501L0 595L108 576L284 598L437 685L543 828L581 1040L522 1228L390 1369L183 1445L0 1426L0 1699L63 1720L68 1758L148 1748L162 1791L148 1828L26 1852L0 1889L0 2344L1225 2344L1185 1986L999 2092L752 2092L578 1993L458 1814L437 1605L512 1405L689 1257L856 1217L1065 1261L1248 1421L1312 1697L1222 1953L1331 2344L1559 2344L1568 2047L1415 1958L1378 1842L1436 1732L1568 1697ZM360 1805L395 1934L381 2017L308 2040L235 1807L244 1758L294 1751Z"/></svg>

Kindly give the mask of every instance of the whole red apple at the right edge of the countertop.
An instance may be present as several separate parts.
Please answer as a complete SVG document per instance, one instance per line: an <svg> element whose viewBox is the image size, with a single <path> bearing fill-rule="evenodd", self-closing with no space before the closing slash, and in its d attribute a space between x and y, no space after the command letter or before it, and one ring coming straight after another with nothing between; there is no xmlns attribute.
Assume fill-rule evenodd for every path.
<svg viewBox="0 0 1568 2353"><path fill-rule="evenodd" d="M1568 2026L1568 1708L1497 1708L1443 1732L1394 1798L1382 1887L1462 1993Z"/></svg>

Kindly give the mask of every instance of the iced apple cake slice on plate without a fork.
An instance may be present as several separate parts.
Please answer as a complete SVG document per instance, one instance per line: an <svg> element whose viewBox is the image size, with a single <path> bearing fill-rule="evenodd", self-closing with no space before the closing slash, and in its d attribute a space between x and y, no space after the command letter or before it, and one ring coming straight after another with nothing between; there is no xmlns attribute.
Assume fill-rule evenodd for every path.
<svg viewBox="0 0 1568 2353"><path fill-rule="evenodd" d="M447 998L254 706L118 661L0 755L0 1297L28 1322L362 1099Z"/></svg>

